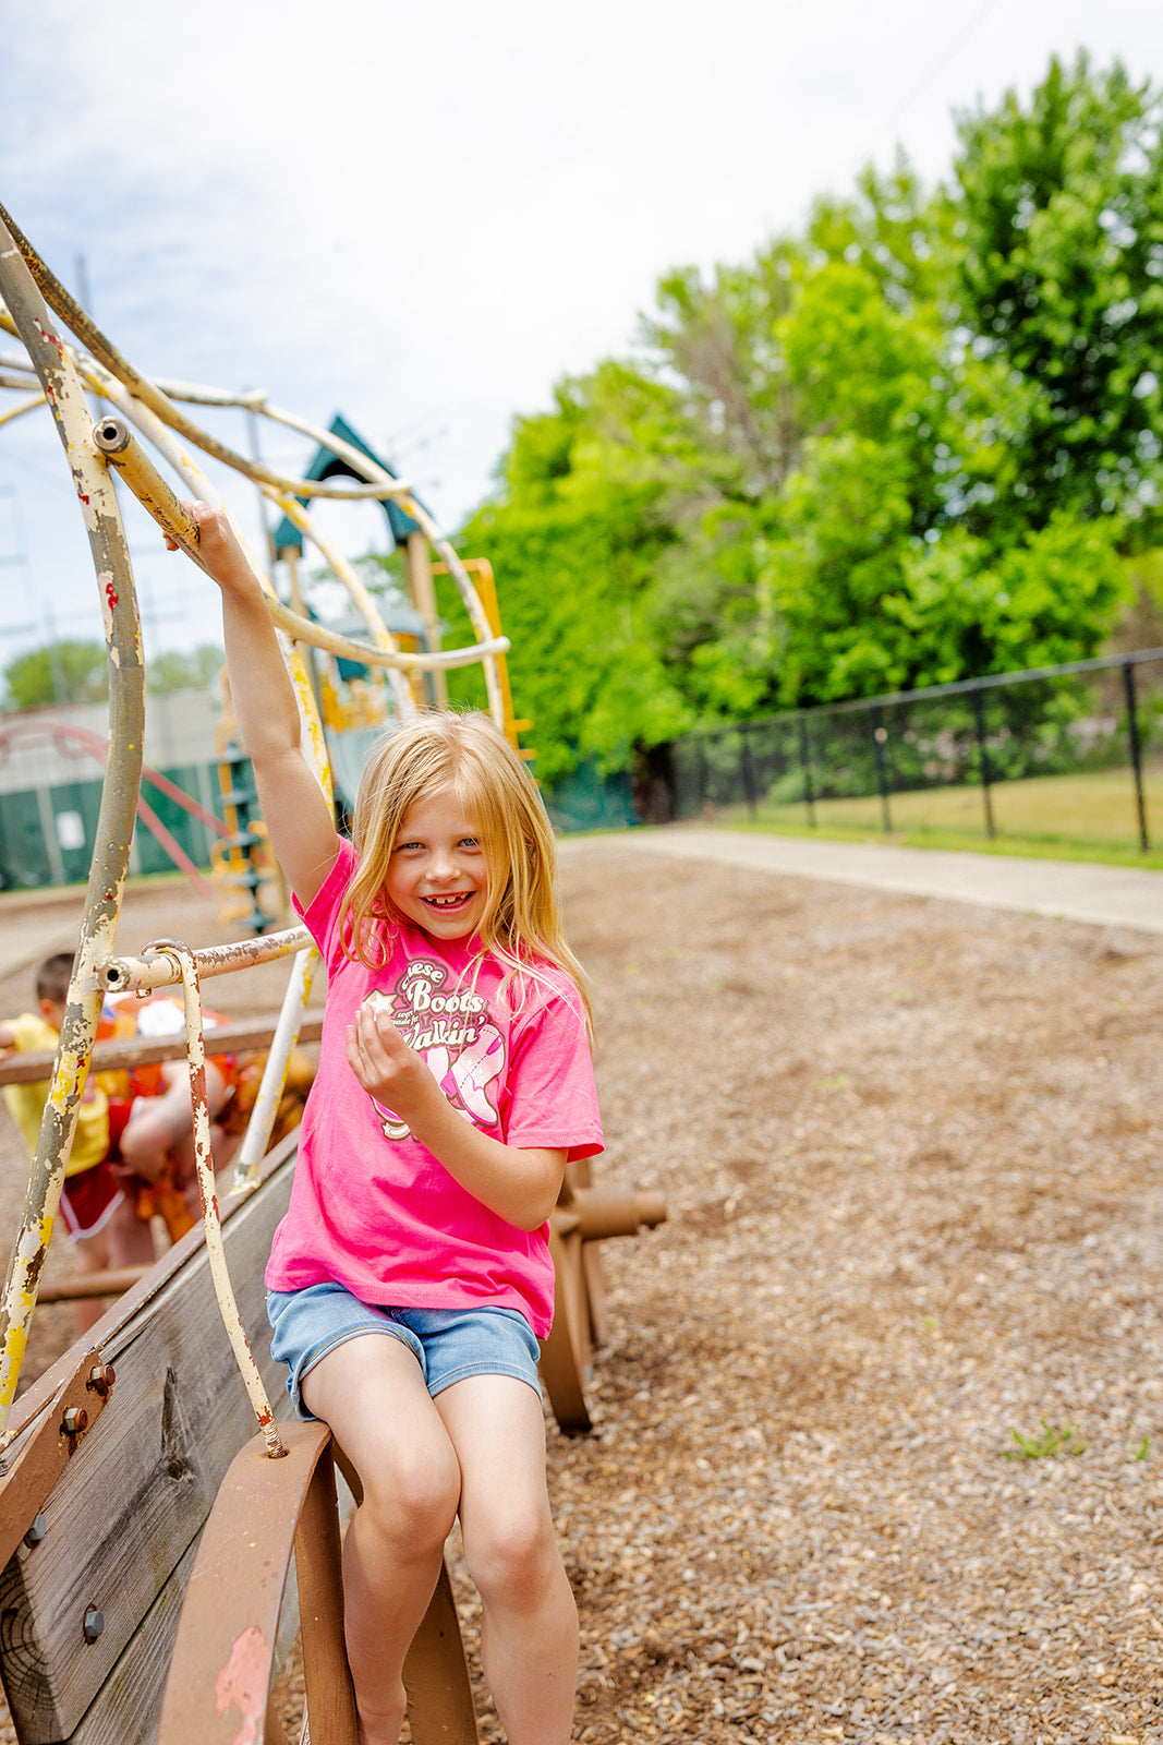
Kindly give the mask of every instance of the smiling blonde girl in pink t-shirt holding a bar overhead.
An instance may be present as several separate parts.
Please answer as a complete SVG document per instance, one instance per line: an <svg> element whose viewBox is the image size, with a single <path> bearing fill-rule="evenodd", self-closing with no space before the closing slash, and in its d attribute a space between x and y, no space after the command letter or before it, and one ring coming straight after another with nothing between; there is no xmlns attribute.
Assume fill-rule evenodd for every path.
<svg viewBox="0 0 1163 1745"><path fill-rule="evenodd" d="M337 836L262 590L192 511L270 841L328 968L319 1075L267 1269L272 1351L359 1473L343 1543L361 1745L398 1745L401 1670L460 1516L511 1745L565 1745L577 1612L546 1488L537 1342L567 1159L602 1150L553 834L483 715L389 731Z"/></svg>

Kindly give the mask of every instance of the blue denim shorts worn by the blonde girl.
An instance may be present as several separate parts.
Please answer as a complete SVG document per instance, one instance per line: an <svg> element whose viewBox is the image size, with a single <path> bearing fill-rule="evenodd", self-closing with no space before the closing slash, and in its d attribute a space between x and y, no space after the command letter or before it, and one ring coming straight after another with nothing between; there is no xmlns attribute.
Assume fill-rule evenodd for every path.
<svg viewBox="0 0 1163 1745"><path fill-rule="evenodd" d="M541 1347L516 1309L377 1309L342 1284L267 1291L270 1356L288 1366L286 1391L298 1417L310 1419L302 1384L309 1370L359 1333L399 1338L420 1365L432 1398L467 1375L513 1375L541 1396Z"/></svg>

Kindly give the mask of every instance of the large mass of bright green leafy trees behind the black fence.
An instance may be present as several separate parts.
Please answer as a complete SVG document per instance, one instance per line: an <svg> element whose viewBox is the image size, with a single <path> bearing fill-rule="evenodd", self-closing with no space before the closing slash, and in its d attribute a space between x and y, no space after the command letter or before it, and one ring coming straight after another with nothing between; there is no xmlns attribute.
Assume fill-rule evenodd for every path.
<svg viewBox="0 0 1163 1745"><path fill-rule="evenodd" d="M1163 492L1160 98L1051 63L521 417L495 567L546 778L746 719L1093 654ZM459 681L469 682L469 681Z"/></svg>

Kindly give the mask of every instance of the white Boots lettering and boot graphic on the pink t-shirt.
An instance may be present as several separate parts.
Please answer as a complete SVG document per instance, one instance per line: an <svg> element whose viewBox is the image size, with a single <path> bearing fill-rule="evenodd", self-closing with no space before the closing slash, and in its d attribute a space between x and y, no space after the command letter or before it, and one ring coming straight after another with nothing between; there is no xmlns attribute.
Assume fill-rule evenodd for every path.
<svg viewBox="0 0 1163 1745"><path fill-rule="evenodd" d="M504 1073L504 1037L490 1021L488 1000L474 988L443 993L448 967L413 958L392 991L368 995L373 1012L387 1012L410 1049L422 1054L452 1106L466 1120L495 1127L499 1115L488 1087ZM375 1103L387 1139L406 1139L408 1124Z"/></svg>

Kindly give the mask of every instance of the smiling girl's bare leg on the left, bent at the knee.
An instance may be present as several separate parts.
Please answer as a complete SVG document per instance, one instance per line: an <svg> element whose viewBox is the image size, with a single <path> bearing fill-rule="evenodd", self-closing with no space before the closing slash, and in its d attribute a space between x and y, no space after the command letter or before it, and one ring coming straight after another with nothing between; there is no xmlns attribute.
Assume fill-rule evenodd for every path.
<svg viewBox="0 0 1163 1745"><path fill-rule="evenodd" d="M363 1333L303 1377L307 1408L359 1473L363 1502L343 1537L343 1630L361 1745L398 1745L403 1665L439 1574L460 1468L398 1338Z"/></svg>

